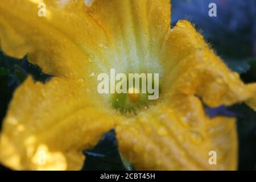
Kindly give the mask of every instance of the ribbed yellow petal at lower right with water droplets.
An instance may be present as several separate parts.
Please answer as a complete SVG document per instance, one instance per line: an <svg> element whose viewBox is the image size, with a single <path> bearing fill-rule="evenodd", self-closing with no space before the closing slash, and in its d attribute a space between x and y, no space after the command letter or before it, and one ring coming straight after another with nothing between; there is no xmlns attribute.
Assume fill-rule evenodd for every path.
<svg viewBox="0 0 256 182"><path fill-rule="evenodd" d="M186 114L190 118L186 119ZM199 98L194 96L179 103L165 102L151 107L136 118L121 122L116 131L122 154L136 169L234 170L237 167L235 119L208 118ZM217 154L216 165L209 163L210 151Z"/></svg>

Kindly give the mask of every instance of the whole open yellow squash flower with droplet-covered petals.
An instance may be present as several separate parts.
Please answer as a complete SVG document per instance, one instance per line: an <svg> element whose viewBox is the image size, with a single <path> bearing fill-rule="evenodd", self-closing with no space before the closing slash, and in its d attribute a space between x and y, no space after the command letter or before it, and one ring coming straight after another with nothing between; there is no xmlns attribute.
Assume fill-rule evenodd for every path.
<svg viewBox="0 0 256 182"><path fill-rule="evenodd" d="M45 17L38 16L40 2ZM203 104L244 101L256 110L256 85L243 84L189 22L171 28L170 17L169 0L2 0L2 50L27 55L54 77L46 84L28 77L15 91L1 131L1 163L81 169L82 150L114 128L137 169L236 169L235 119L209 118ZM142 102L127 107L135 114L125 102L115 105L118 95L97 92L96 75L111 68L159 73L159 99L148 104L130 96ZM208 162L210 151L216 165Z"/></svg>

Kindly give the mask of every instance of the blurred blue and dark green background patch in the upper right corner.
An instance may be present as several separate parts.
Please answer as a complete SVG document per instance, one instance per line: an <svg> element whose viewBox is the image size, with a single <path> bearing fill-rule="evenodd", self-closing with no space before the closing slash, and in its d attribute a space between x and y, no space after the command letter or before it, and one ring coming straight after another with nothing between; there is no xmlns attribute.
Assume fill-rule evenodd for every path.
<svg viewBox="0 0 256 182"><path fill-rule="evenodd" d="M216 3L217 17L208 15L209 3ZM217 54L238 73L245 73L249 61L256 61L255 17L255 0L172 0L173 25L180 19L195 23Z"/></svg>

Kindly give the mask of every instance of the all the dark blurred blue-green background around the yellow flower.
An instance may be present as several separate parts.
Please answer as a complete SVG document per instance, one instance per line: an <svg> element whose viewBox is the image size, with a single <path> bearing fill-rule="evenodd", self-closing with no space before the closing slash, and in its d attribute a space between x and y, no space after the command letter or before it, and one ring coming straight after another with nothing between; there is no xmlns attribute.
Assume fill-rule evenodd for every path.
<svg viewBox="0 0 256 182"><path fill-rule="evenodd" d="M217 4L217 17L208 16L210 2ZM188 19L206 37L226 64L241 74L243 81L256 81L256 1L255 0L172 0L172 26ZM27 75L46 82L50 75L28 63L0 51L0 129L16 87ZM205 108L210 117L237 117L240 170L256 169L256 113L246 105ZM119 154L114 131L105 134L92 150L84 151L84 170L130 170L129 162ZM0 166L1 169L7 169Z"/></svg>

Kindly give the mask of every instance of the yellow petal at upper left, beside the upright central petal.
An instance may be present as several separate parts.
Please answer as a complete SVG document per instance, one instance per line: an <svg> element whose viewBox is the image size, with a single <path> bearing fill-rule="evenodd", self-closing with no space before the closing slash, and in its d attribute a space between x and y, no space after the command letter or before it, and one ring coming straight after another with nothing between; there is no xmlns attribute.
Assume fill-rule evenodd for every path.
<svg viewBox="0 0 256 182"><path fill-rule="evenodd" d="M42 7L45 17L38 15ZM84 1L1 1L1 48L18 59L28 54L31 63L51 75L85 75L91 55L102 56L98 44L107 39L84 7Z"/></svg>

